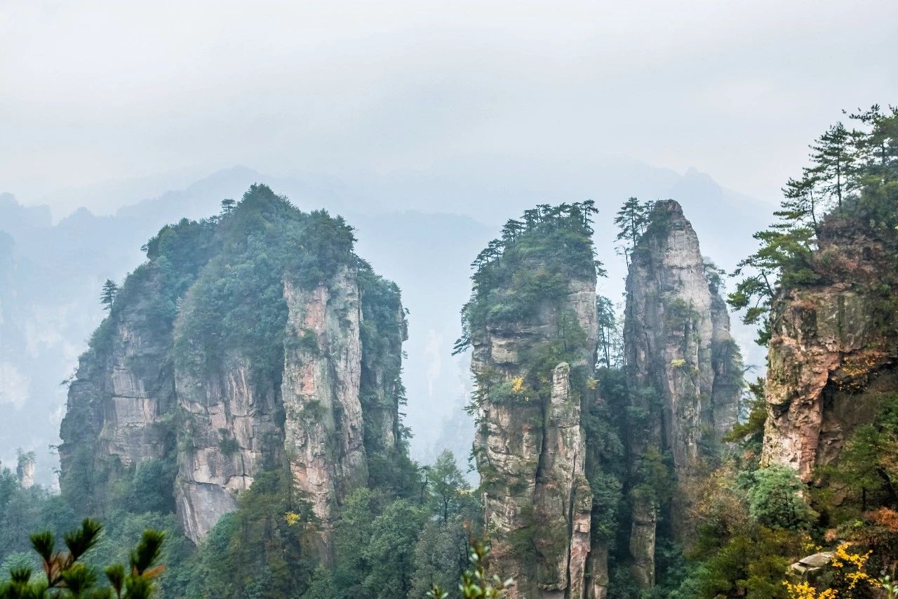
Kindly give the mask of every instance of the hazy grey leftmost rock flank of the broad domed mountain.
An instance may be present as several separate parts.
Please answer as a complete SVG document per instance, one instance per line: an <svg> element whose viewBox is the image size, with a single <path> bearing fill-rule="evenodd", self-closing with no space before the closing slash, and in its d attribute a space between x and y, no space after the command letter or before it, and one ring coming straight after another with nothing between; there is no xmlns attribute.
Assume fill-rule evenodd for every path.
<svg viewBox="0 0 898 599"><path fill-rule="evenodd" d="M158 287L152 266L134 277L132 299L103 321L69 385L60 483L87 513L100 503L92 478L161 460L174 446L171 329L152 320L147 301Z"/></svg>

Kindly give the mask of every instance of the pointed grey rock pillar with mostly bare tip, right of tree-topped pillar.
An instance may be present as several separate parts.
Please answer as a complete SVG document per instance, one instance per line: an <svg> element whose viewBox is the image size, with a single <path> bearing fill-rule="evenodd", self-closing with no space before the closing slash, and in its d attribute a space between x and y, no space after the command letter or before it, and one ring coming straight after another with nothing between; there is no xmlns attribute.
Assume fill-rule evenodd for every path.
<svg viewBox="0 0 898 599"><path fill-rule="evenodd" d="M657 511L663 493L641 473L669 455L677 480L675 523L690 503L709 448L735 424L741 359L723 300L709 284L695 231L675 201L658 201L629 265L627 353L632 532L630 553L643 586L654 584ZM679 514L679 516L677 515Z"/></svg>

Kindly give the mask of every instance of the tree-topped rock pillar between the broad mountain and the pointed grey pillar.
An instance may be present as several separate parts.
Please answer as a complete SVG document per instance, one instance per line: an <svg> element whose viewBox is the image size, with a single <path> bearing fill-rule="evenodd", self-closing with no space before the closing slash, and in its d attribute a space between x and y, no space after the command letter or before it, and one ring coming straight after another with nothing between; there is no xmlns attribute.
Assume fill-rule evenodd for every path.
<svg viewBox="0 0 898 599"><path fill-rule="evenodd" d="M589 585L592 493L581 416L593 397L598 334L585 210L542 207L509 221L503 240L475 262L463 311L484 522L495 568L515 578L512 597L602 596L604 588L601 576ZM592 567L604 571L604 563Z"/></svg>

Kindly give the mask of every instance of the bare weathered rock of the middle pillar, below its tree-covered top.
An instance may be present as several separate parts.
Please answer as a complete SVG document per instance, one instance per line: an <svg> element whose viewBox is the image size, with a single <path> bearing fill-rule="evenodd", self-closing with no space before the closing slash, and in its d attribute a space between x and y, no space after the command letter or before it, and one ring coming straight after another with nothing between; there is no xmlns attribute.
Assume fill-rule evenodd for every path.
<svg viewBox="0 0 898 599"><path fill-rule="evenodd" d="M585 332L579 365L592 371L598 335L595 279L585 277L569 282L562 307L547 303L535 310L531 321L474 335L475 376L484 377L489 371L494 380L524 378L521 357L536 344L558 339L562 311L573 315ZM475 451L485 488L484 517L497 569L503 576L515 577L511 596L585 594L592 493L584 473L581 398L571 392L570 369L567 362L555 366L546 381L550 399L545 406L529 398L494 401L489 389L481 389ZM515 538L519 543L533 542L535 564L524 563ZM603 566L594 568L601 571Z"/></svg>

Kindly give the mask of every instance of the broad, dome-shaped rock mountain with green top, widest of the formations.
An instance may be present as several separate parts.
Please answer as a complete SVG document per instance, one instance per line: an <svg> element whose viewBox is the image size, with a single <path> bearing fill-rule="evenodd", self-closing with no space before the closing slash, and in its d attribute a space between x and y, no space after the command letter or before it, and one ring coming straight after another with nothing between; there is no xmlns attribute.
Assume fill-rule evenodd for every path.
<svg viewBox="0 0 898 599"><path fill-rule="evenodd" d="M273 216L264 211L271 205ZM62 484L101 507L106 481L127 480L129 468L147 460L171 464L172 503L199 541L260 472L288 471L326 552L337 507L368 482L371 454L403 451L399 290L360 263L351 243L340 252L319 246L330 262L295 260L302 250L278 247L297 238L314 243L302 237L309 215L270 191L244 197L229 218L240 219L241 210L261 211L265 226L284 227L285 238L269 234L269 246L247 249L243 240L252 237L222 232L235 227L228 219L185 221L178 230L190 243L151 250L150 262L128 278L69 389ZM314 224L348 235L330 217ZM193 231L199 227L212 229L202 242ZM179 257L198 246L203 259L183 266ZM278 252L279 262L272 259ZM240 272L242 261L251 273ZM313 282L304 268L321 264L330 274ZM172 281L178 286L165 287ZM158 309L159 297L168 310Z"/></svg>

